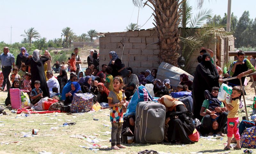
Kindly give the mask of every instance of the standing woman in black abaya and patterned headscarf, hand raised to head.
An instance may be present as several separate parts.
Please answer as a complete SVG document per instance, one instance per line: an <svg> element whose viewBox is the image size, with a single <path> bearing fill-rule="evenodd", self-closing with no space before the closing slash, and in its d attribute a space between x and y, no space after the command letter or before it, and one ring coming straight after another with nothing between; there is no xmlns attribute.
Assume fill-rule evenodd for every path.
<svg viewBox="0 0 256 154"><path fill-rule="evenodd" d="M49 89L44 75L44 63L49 60L47 57L39 56L39 50L33 51L33 56L28 56L25 65L31 67L31 88L34 89L34 82L39 80L41 82L40 89L43 91L43 96L49 97Z"/></svg>

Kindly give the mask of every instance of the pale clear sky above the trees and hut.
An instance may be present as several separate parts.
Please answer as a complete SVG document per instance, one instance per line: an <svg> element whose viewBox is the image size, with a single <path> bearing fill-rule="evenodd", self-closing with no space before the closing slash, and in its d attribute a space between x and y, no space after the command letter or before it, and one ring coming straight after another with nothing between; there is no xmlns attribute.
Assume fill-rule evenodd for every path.
<svg viewBox="0 0 256 154"><path fill-rule="evenodd" d="M196 2L189 0L194 14L200 11L196 9ZM250 18L255 19L255 4L255 0L232 0L231 12L239 19L244 11L249 11ZM21 42L24 37L20 35L30 27L47 41L60 38L64 27L70 27L76 35L90 29L102 33L123 32L126 26L137 23L137 20L140 26L146 23L141 29L154 27L154 17L150 18L153 11L148 6L135 7L132 0L0 0L0 6L0 42L6 43ZM223 17L228 0L204 0L202 9L206 8L212 9L212 15Z"/></svg>

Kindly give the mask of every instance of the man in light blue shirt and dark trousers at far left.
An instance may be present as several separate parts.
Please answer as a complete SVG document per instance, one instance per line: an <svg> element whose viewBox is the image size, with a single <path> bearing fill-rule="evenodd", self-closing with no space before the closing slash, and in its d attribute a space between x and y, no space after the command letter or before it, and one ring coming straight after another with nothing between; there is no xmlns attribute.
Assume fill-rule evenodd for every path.
<svg viewBox="0 0 256 154"><path fill-rule="evenodd" d="M2 73L4 75L3 85L0 87L0 90L3 91L5 84L7 84L7 91L9 91L11 87L11 83L9 80L9 75L12 70L12 66L14 67L14 56L9 52L8 47L4 47L4 53L0 55L1 65L2 65Z"/></svg>

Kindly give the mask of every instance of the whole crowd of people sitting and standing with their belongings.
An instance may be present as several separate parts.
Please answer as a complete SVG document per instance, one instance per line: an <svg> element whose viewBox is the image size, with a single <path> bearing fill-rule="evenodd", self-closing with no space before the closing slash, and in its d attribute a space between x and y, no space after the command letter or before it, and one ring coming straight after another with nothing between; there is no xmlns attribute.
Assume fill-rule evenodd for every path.
<svg viewBox="0 0 256 154"><path fill-rule="evenodd" d="M121 145L122 128L129 127L134 131L136 105L140 101L155 100L166 107L166 141L194 143L188 135L197 128L202 135L227 133L228 145L225 149L230 149L231 137L234 134L233 140L237 142L235 149L241 149L238 144L241 133L237 129L237 111L241 104L242 93L239 79L241 78L244 84L244 74L255 72L255 57L250 59L253 63L254 58L252 65L250 60L244 58L244 51L238 51L238 60L231 64L229 71L224 72L218 66L212 50L202 48L197 58L199 64L196 67L194 80L190 81L187 74L181 74L180 84L173 88L169 79L157 78L157 69L145 70L137 76L131 67L123 67L115 51L109 52L109 63L100 66L99 53L90 50L87 58L88 68L83 72L78 52L75 48L67 62L67 68L64 62L60 65L58 61L51 66L52 57L47 50L44 55L40 55L39 50L34 50L33 54L29 55L24 47L20 49L14 64L14 56L9 52L8 47L4 47L4 53L0 55L4 75L0 90L3 91L7 85L8 96L5 104L11 104L10 88L25 90L33 104L31 109L37 111L48 110L51 104L58 101L70 105L75 94L91 93L95 103L104 105L108 103L112 124L111 148L118 150L125 148ZM214 65L215 62L216 65ZM67 69L70 72L69 79ZM127 72L125 75L122 73L124 69ZM52 70L59 75L54 76ZM222 79L229 76L237 76L237 79L228 82L228 85L233 87L231 104L217 99ZM147 84L153 84L153 97L144 87ZM186 106L171 95L173 92L183 91L193 96L193 115L201 121L200 125L195 125L192 120L188 120L187 114L183 112L187 111ZM173 116L173 112L182 113ZM225 131L226 127L227 131Z"/></svg>

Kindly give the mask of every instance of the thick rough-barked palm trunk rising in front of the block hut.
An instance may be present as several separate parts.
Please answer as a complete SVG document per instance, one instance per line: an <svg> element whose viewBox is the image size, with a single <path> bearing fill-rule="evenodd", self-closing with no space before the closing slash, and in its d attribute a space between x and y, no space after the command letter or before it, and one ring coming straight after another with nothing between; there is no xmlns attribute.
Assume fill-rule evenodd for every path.
<svg viewBox="0 0 256 154"><path fill-rule="evenodd" d="M141 0L132 0L136 6L142 6ZM150 3L152 6L150 6ZM177 66L179 46L178 26L181 9L179 0L147 0L144 6L150 7L154 13L154 26L159 39L159 61Z"/></svg>

